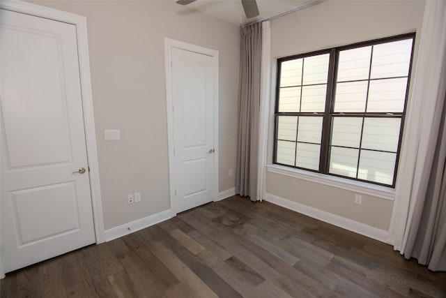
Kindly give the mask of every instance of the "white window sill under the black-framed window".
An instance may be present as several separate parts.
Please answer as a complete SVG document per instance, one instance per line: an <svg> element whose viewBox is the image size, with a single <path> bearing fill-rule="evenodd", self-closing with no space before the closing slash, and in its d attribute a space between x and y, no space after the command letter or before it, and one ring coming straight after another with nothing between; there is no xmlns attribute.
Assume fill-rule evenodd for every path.
<svg viewBox="0 0 446 298"><path fill-rule="evenodd" d="M268 170L268 172L272 172L275 174L282 174L288 177L345 189L346 191L362 193L364 195L372 195L374 197L383 198L385 200L394 200L395 198L395 190L394 188L390 187L368 184L362 181L354 181L326 174L294 169L291 167L284 167L282 165L266 165L266 169Z"/></svg>

